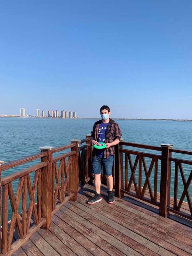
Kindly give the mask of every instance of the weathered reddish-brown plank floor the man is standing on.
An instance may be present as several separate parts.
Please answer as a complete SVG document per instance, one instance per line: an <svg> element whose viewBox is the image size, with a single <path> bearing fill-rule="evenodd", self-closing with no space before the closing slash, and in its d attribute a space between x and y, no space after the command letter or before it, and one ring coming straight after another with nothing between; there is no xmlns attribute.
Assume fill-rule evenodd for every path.
<svg viewBox="0 0 192 256"><path fill-rule="evenodd" d="M130 197L108 204L105 186L101 202L86 204L92 193L94 187L85 185L76 202L52 216L49 230L39 229L12 255L192 255L192 230L173 216L163 218Z"/></svg>

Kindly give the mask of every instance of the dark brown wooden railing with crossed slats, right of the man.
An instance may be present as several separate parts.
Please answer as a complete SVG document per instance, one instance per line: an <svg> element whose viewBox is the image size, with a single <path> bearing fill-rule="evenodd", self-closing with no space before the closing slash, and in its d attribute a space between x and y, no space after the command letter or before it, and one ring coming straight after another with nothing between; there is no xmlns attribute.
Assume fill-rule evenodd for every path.
<svg viewBox="0 0 192 256"><path fill-rule="evenodd" d="M129 149L123 148L128 146ZM192 170L186 181L182 164L192 165L192 161L179 158L172 158L173 153L192 155L192 151L173 149L172 145L162 144L161 147L136 144L121 141L116 145L115 155L115 191L116 196L124 194L133 196L139 200L154 204L159 208L159 214L167 217L170 212L179 214L192 220L192 203L189 193L189 186L192 180ZM131 148L130 148L131 147ZM132 148L147 149L150 152L135 151ZM145 150L145 151L147 151ZM151 150L159 151L160 154L151 154ZM134 159L134 160L133 160ZM148 159L148 168L146 164ZM160 162L160 163L159 163ZM174 176L174 199L173 207L170 203L171 172L172 163L175 163ZM159 168L158 168L159 166ZM160 167L161 166L161 167ZM128 179L128 170L130 178ZM136 178L137 170L137 178ZM180 171L184 190L178 200L178 172ZM151 178L153 172L153 178ZM158 175L159 174L159 175ZM158 183L160 182L160 184ZM159 191L157 191L159 184ZM152 186L153 185L153 186ZM153 189L152 189L153 187ZM148 188L148 189L147 189ZM184 202L185 196L187 203ZM186 211L181 211L181 206L185 204ZM185 208L185 207L184 207Z"/></svg>

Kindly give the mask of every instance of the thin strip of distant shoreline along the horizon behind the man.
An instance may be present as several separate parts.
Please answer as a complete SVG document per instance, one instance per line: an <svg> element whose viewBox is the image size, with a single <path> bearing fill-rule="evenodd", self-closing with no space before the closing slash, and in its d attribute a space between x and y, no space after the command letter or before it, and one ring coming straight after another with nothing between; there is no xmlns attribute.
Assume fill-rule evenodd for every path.
<svg viewBox="0 0 192 256"><path fill-rule="evenodd" d="M39 119L100 119L99 117L36 117L36 116L0 116L0 117L7 117L7 118L39 118ZM192 121L192 119L166 119L166 118L113 118L116 120L148 120L148 121Z"/></svg>

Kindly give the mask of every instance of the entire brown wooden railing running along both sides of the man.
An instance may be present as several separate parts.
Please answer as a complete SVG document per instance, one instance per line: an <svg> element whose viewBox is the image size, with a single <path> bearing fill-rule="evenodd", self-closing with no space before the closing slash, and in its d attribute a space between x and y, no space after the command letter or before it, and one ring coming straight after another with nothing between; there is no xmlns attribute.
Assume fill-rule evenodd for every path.
<svg viewBox="0 0 192 256"><path fill-rule="evenodd" d="M138 151L132 148L138 148ZM41 152L38 154L9 163L0 163L1 175L1 172L10 168L41 159L41 162L24 170L2 179L0 177L0 191L2 191L1 253L3 255L12 255L37 229L48 229L52 215L69 200L75 201L77 192L91 181L90 135L86 135L84 140L71 140L71 144L59 148L42 147L40 149ZM143 149L146 152L143 152ZM153 150L159 153L151 153ZM62 151L65 152L62 153ZM55 153L57 156L53 156ZM115 146L113 166L116 196L121 197L127 194L136 200L153 204L159 208L159 214L164 217L167 217L169 212L173 212L192 220L189 192L192 171L186 179L183 168L183 164L192 165L192 161L173 158L172 153L192 155L191 151L173 149L172 145L164 144L156 147L121 141ZM171 172L173 172L171 167L174 167L174 164L172 203L170 202ZM184 190L178 200L179 172ZM101 178L102 182L105 182L105 176L102 175ZM16 191L13 189L15 182L18 183ZM185 196L188 202L184 202ZM182 211L182 205L189 209ZM10 211L12 217L8 221Z"/></svg>

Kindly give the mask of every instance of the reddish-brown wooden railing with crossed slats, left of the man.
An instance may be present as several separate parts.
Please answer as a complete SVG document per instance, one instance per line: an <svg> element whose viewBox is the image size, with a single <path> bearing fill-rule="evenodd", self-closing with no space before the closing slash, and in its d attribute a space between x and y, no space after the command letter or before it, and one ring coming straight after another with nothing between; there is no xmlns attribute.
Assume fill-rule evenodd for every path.
<svg viewBox="0 0 192 256"><path fill-rule="evenodd" d="M40 163L1 179L3 255L12 255L37 229L48 229L52 215L69 200L75 201L78 190L90 180L90 137L71 142L59 148L42 147L38 154L0 164L1 174L41 159ZM84 142L86 144L80 146ZM67 149L71 151L53 157L54 153ZM12 211L9 221L8 211Z"/></svg>

